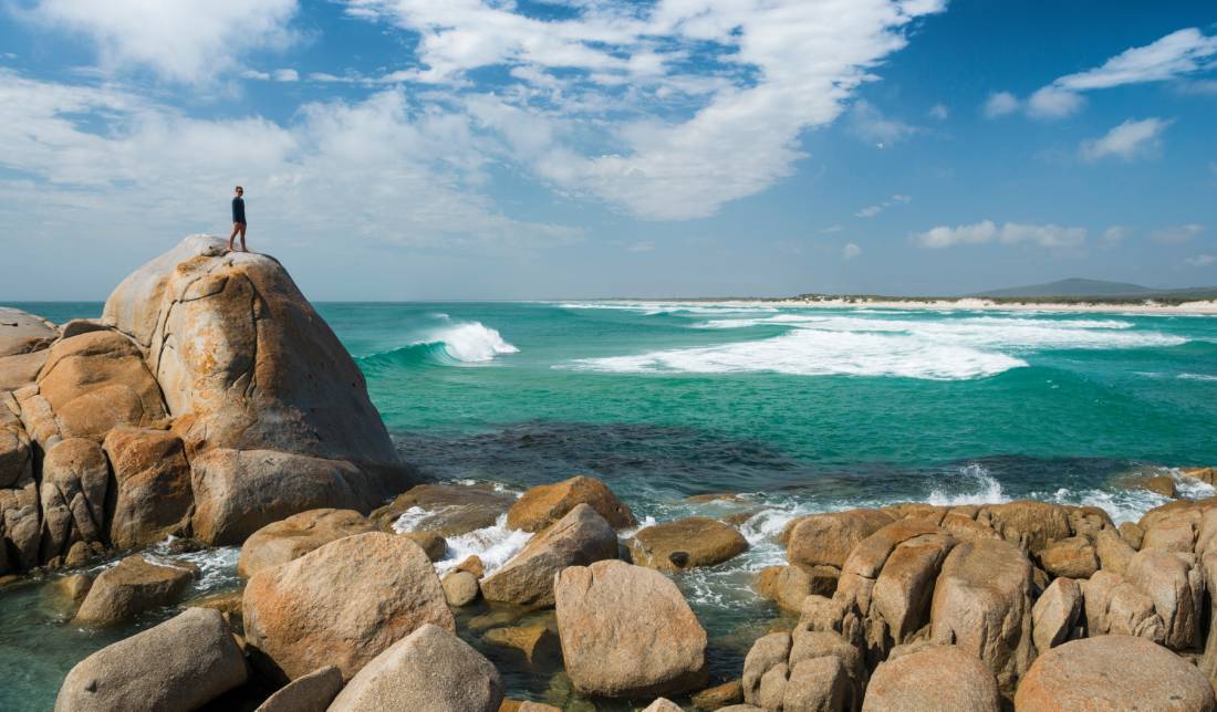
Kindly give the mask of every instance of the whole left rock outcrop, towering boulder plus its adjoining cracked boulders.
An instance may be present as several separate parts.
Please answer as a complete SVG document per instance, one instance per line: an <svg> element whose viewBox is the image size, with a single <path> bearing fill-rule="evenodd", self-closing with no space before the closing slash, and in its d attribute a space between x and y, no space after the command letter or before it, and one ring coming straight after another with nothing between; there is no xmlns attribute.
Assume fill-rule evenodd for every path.
<svg viewBox="0 0 1217 712"><path fill-rule="evenodd" d="M97 321L2 310L0 574L168 534L239 544L410 484L358 366L287 271L223 247L187 237Z"/></svg>

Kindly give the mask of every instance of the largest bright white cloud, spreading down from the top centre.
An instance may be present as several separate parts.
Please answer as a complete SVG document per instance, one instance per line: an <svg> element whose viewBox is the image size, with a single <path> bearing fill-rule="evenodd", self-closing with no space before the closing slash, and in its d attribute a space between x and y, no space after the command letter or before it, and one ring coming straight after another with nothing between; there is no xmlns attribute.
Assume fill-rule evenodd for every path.
<svg viewBox="0 0 1217 712"><path fill-rule="evenodd" d="M650 219L711 215L790 175L803 156L800 134L836 120L876 79L874 67L907 44L909 23L942 9L942 0L581 1L572 18L539 21L505 2L348 0L357 17L419 33L421 82L459 88L473 69L526 69L493 95L465 91L466 111L560 192ZM707 49L714 66L683 61ZM636 118L593 129L596 147L585 147L608 112ZM897 124L864 130L890 141L908 133Z"/></svg>

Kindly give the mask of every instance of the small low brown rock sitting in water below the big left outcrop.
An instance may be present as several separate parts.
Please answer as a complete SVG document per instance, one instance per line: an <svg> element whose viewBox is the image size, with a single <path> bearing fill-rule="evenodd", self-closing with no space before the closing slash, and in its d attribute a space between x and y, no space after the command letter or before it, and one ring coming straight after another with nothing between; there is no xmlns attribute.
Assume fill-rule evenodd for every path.
<svg viewBox="0 0 1217 712"><path fill-rule="evenodd" d="M97 574L74 622L112 626L136 613L172 604L181 598L196 576L198 567L192 564L150 560L142 554L128 556Z"/></svg>

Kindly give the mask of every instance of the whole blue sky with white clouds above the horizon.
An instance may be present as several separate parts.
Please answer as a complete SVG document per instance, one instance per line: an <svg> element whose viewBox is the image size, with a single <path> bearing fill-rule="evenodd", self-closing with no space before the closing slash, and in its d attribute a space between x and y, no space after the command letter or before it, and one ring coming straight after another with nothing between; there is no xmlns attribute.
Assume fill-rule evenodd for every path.
<svg viewBox="0 0 1217 712"><path fill-rule="evenodd" d="M0 299L1217 285L1217 4L0 0Z"/></svg>

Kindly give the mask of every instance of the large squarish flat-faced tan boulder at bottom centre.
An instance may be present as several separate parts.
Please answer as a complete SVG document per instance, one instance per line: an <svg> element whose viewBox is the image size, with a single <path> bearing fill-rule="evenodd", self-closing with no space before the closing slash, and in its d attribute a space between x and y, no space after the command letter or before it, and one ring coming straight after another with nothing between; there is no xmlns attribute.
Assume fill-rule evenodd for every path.
<svg viewBox="0 0 1217 712"><path fill-rule="evenodd" d="M662 573L624 561L571 566L554 584L566 672L585 695L654 697L706 679L706 630Z"/></svg>

